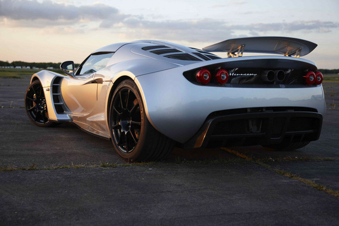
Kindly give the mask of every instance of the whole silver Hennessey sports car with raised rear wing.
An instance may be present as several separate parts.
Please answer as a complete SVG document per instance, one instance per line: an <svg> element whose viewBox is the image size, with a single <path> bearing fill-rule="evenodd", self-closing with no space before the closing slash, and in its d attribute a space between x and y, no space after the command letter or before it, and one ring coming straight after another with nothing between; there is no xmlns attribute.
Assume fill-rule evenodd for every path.
<svg viewBox="0 0 339 226"><path fill-rule="evenodd" d="M111 139L133 161L163 159L174 146L297 149L319 138L326 110L322 73L299 58L316 46L290 37L232 39L202 50L150 40L112 44L77 68L63 62L67 76L33 74L25 108L37 126L71 122Z"/></svg>

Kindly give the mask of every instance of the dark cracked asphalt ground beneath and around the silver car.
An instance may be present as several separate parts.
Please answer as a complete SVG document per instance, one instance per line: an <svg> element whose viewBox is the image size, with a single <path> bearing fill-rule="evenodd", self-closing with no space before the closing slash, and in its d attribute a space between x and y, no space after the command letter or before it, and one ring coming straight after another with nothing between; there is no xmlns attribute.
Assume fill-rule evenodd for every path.
<svg viewBox="0 0 339 226"><path fill-rule="evenodd" d="M227 150L175 148L163 162L136 166L71 124L36 127L23 108L28 83L0 78L0 225L339 224L337 197ZM337 84L323 85L318 141L293 152L231 149L339 190ZM99 167L106 163L118 165Z"/></svg>

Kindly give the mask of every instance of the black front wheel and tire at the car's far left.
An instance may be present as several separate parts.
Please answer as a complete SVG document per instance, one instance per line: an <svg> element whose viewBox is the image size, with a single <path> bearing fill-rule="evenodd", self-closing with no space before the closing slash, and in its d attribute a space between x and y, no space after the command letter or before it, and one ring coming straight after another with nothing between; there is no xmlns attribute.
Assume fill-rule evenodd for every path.
<svg viewBox="0 0 339 226"><path fill-rule="evenodd" d="M25 109L28 118L36 126L52 127L60 124L48 118L45 93L39 80L32 82L26 91Z"/></svg>

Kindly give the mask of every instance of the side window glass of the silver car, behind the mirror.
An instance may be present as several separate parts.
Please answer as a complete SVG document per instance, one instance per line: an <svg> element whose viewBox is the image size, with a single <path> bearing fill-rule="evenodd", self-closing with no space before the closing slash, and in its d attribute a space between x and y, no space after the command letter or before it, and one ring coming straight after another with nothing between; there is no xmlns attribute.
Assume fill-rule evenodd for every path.
<svg viewBox="0 0 339 226"><path fill-rule="evenodd" d="M77 71L77 76L81 74L94 73L106 67L109 59L114 53L100 53L90 55L80 66Z"/></svg>

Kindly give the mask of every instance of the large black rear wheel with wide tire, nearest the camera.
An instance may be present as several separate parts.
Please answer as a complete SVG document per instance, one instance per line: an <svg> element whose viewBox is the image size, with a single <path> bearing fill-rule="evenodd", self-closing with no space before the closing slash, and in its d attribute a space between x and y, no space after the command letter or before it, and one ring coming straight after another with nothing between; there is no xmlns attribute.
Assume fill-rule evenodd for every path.
<svg viewBox="0 0 339 226"><path fill-rule="evenodd" d="M129 161L164 159L175 145L149 123L144 109L136 84L122 81L111 98L108 124L117 153Z"/></svg>

